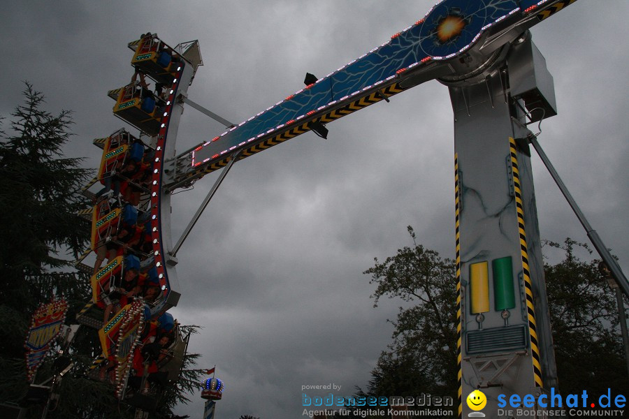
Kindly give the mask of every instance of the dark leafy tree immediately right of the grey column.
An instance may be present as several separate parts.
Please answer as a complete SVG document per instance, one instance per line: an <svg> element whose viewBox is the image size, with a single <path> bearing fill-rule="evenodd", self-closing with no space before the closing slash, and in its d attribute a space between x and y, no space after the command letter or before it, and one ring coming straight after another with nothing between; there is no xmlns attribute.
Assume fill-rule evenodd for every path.
<svg viewBox="0 0 629 419"><path fill-rule="evenodd" d="M577 249L592 251L570 238L547 244L565 253L560 263L544 264L560 390L628 394L616 297L598 270L600 260L577 258Z"/></svg>

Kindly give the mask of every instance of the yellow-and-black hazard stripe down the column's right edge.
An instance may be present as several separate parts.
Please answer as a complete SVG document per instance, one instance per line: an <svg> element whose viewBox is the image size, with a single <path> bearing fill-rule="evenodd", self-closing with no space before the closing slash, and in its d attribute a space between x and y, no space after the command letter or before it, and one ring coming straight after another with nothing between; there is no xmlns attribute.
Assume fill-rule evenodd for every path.
<svg viewBox="0 0 629 419"><path fill-rule="evenodd" d="M537 342L537 327L535 323L535 305L533 304L533 284L530 280L530 270L528 267L528 247L526 245L526 232L524 230L524 205L522 202L522 191L520 187L520 174L518 170L518 156L516 152L516 142L509 138L509 151L511 153L511 166L513 172L513 188L516 201L516 212L518 216L518 230L520 235L520 253L522 256L522 274L524 279L524 292L526 296L526 312L528 315L528 330L530 336L530 353L533 357L533 375L535 387L543 387L542 366L540 363L540 348Z"/></svg>

